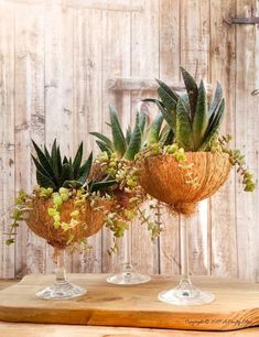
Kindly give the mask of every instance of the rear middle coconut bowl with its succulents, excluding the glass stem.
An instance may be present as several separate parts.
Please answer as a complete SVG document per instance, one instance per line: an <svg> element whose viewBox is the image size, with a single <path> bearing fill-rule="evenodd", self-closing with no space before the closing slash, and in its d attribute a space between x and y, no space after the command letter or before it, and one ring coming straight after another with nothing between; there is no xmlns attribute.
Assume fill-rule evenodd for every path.
<svg viewBox="0 0 259 337"><path fill-rule="evenodd" d="M147 224L151 237L155 238L159 233L159 226L153 224L148 216L145 217L144 211L140 209L140 205L147 196L138 184L138 168L134 166L134 159L141 150L160 139L163 116L161 115L151 124L148 124L145 106L142 106L140 111L137 110L136 112L133 128L129 126L123 132L118 113L111 106L109 107L109 113L111 139L98 132L90 132L97 138L96 142L101 151L96 161L96 170L93 170L96 171L94 176L95 174L101 176L100 172L104 172L117 181L117 188L112 191L116 197L116 207L107 217L107 227L114 231L115 238L122 237L125 230L129 228L129 222L138 214L141 222ZM164 128L170 132L168 126ZM116 247L115 239L115 247L110 251Z"/></svg>

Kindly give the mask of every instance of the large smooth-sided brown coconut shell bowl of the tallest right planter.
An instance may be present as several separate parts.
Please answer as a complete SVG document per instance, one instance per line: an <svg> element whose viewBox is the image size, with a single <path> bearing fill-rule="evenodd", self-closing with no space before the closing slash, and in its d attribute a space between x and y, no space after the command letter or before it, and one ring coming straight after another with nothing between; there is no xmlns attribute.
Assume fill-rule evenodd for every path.
<svg viewBox="0 0 259 337"><path fill-rule="evenodd" d="M192 168L181 167L192 163ZM172 211L190 216L197 202L212 196L225 183L230 168L226 153L186 152L182 163L169 154L158 155L140 162L140 184ZM190 172L196 177L196 185L187 183Z"/></svg>

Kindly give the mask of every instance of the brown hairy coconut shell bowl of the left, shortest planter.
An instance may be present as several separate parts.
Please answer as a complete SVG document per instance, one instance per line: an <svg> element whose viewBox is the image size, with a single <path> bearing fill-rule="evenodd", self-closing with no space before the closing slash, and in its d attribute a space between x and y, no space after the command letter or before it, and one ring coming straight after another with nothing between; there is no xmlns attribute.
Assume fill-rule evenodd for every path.
<svg viewBox="0 0 259 337"><path fill-rule="evenodd" d="M47 213L47 208L53 207L52 199L43 199L40 197L32 198L30 202L31 210L29 211L26 224L30 229L41 238L44 238L51 246L63 249L67 246L67 241L73 235L71 243L76 243L85 238L95 235L105 222L105 210L109 210L111 202L99 199L95 207L100 207L100 210L94 209L89 202L85 202L84 207L79 209L79 215L76 220L79 221L73 229L64 231L62 228L55 228L53 217ZM68 199L61 208L61 222L71 221L71 213L75 210L74 200Z"/></svg>

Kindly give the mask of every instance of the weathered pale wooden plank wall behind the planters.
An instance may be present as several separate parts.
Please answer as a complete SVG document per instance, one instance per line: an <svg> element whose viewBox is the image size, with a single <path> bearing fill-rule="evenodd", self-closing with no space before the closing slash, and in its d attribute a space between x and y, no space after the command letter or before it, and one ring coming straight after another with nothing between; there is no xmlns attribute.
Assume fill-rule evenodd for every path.
<svg viewBox="0 0 259 337"><path fill-rule="evenodd" d="M0 1L0 205L1 231L19 188L30 191L34 172L31 138L57 138L73 153L88 131L107 131L108 104L126 126L134 105L155 96L154 77L180 84L179 66L207 81L219 80L227 100L224 132L230 132L256 176L259 145L258 26L227 25L250 17L257 0L17 0ZM190 221L195 274L259 281L259 193L241 192L233 172ZM147 273L179 273L179 224L163 213L164 231L153 244L144 226L132 227L132 259ZM68 258L68 269L108 272L110 233L90 239L94 249ZM52 250L26 226L17 243L0 237L0 276L53 271Z"/></svg>

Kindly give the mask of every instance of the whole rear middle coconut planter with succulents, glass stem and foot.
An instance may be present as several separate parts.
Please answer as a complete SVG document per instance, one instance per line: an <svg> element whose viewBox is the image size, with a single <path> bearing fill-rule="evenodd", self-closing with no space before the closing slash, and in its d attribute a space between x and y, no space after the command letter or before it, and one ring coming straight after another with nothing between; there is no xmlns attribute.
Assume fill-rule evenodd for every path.
<svg viewBox="0 0 259 337"><path fill-rule="evenodd" d="M148 115L144 106L140 111L137 109L134 126L132 129L129 126L127 132L122 131L118 113L111 106L109 115L111 139L98 132L90 132L97 138L96 143L101 151L93 166L91 176L100 178L108 174L118 183L111 188L114 204L107 224L115 233L115 246L111 252L118 249L118 239L125 237L126 240L125 261L119 265L118 273L108 275L107 282L120 285L140 284L150 281L150 276L139 273L132 265L131 236L128 229L132 220L140 214L141 204L147 199L147 194L138 183L134 157L147 140Z"/></svg>

